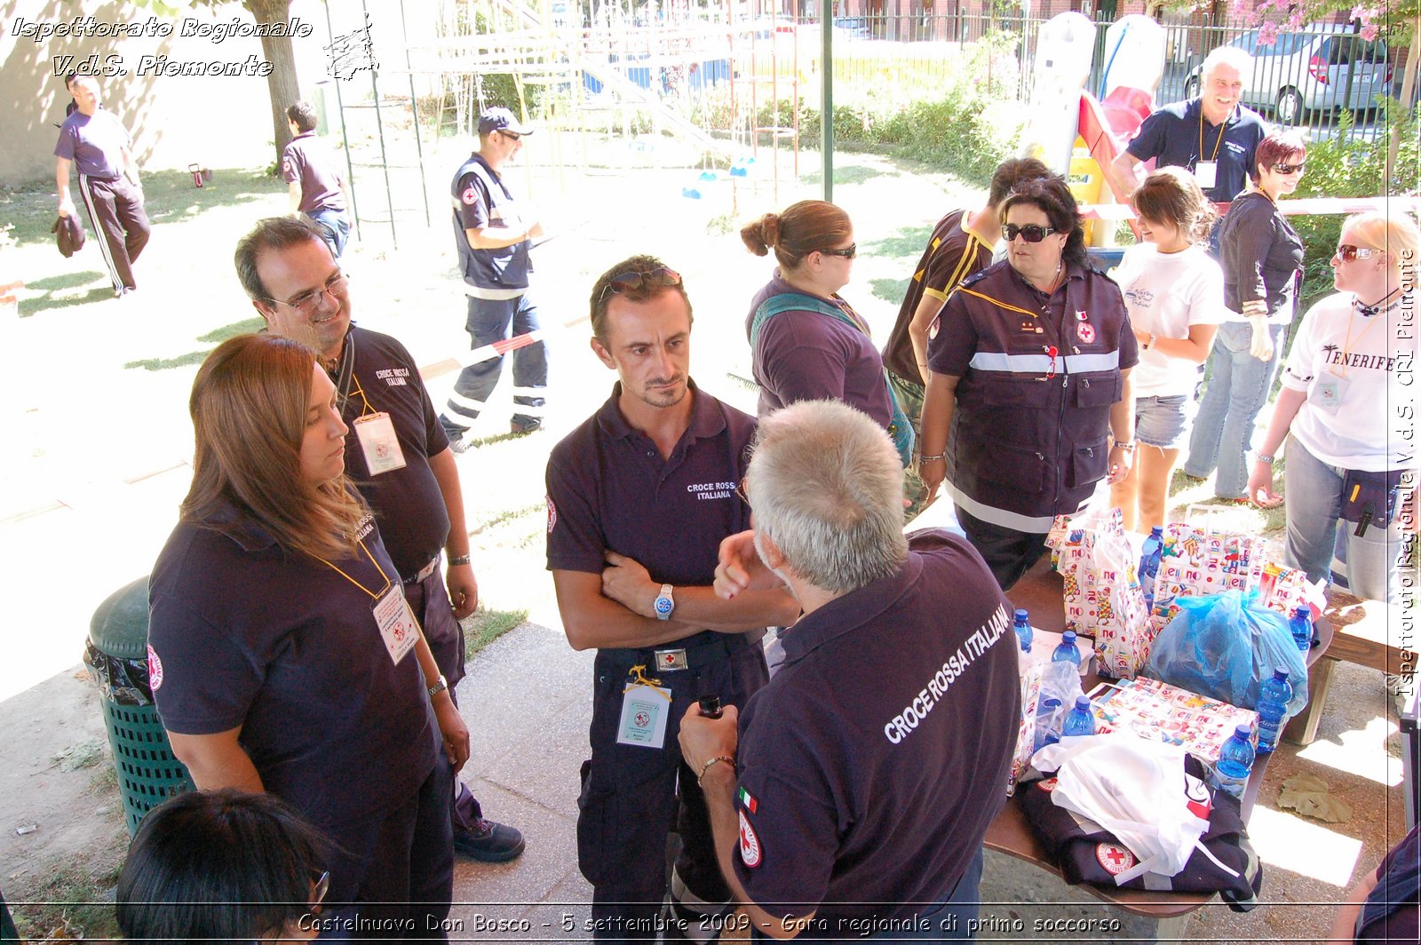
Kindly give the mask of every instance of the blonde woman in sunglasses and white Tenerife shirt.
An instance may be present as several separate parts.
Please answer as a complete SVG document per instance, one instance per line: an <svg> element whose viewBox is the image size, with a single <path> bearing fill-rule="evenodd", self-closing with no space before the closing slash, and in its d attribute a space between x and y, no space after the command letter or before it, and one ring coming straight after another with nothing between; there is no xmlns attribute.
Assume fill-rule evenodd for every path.
<svg viewBox="0 0 1421 945"><path fill-rule="evenodd" d="M1343 223L1331 257L1337 294L1313 306L1297 328L1248 479L1258 504L1283 502L1272 482L1273 456L1286 438L1285 561L1313 581L1329 580L1333 551L1343 546L1347 590L1391 603L1400 590L1403 531L1417 530L1415 493L1401 479L1415 468L1408 385L1417 355L1418 244L1421 232L1401 212L1360 213Z"/></svg>

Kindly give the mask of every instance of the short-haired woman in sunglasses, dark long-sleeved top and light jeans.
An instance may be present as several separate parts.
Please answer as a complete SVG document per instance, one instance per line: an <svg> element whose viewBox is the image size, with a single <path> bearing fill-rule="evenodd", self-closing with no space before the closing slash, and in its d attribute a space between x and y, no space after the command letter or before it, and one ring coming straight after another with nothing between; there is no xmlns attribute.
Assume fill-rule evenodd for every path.
<svg viewBox="0 0 1421 945"><path fill-rule="evenodd" d="M1303 242L1277 210L1302 180L1307 142L1275 131L1253 153L1248 193L1219 226L1225 321L1209 354L1209 381L1189 438L1184 475L1214 477L1214 495L1245 500L1253 422L1268 402L1303 276Z"/></svg>

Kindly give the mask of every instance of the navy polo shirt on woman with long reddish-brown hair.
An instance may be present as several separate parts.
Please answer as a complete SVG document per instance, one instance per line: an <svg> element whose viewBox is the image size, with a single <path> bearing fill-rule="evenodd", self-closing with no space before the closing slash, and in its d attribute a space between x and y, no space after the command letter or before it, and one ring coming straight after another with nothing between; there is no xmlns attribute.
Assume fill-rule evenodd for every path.
<svg viewBox="0 0 1421 945"><path fill-rule="evenodd" d="M225 522L237 522L229 509ZM368 520L335 564L378 593L399 581ZM384 577L381 576L384 571ZM396 584L398 587L398 584ZM414 651L395 665L364 590L252 523L173 529L148 588L149 675L163 728L242 729L267 790L321 828L409 803L439 729Z"/></svg>

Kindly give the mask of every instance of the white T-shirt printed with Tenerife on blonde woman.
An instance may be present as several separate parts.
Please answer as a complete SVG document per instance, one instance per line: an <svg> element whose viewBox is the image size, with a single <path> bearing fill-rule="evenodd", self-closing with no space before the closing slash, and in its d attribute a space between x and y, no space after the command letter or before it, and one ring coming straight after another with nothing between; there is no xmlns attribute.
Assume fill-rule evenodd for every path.
<svg viewBox="0 0 1421 945"><path fill-rule="evenodd" d="M1293 436L1330 466L1414 469L1415 355L1414 313L1400 301L1363 317L1350 294L1323 298L1303 317L1283 368L1283 387L1307 392Z"/></svg>

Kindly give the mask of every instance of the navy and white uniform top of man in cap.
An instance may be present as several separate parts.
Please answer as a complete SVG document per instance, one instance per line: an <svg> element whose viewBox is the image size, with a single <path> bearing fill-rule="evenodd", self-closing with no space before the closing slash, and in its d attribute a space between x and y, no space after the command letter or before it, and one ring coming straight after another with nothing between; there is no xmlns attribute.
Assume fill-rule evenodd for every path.
<svg viewBox="0 0 1421 945"><path fill-rule="evenodd" d="M517 200L503 183L503 178L480 155L473 153L453 175L453 242L459 250L459 273L466 288L493 290L493 296L509 298L506 293L527 288L533 260L529 240L502 249L473 249L465 230L483 227L522 227ZM477 293L469 293L477 294Z"/></svg>

